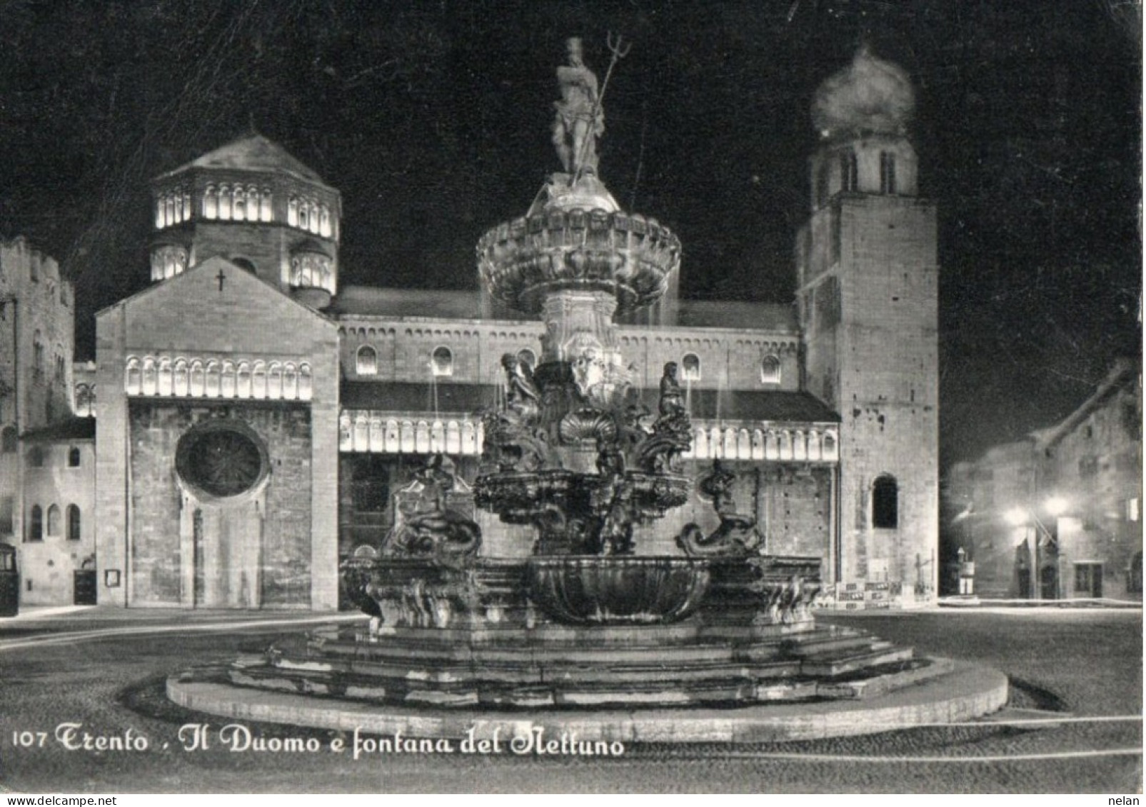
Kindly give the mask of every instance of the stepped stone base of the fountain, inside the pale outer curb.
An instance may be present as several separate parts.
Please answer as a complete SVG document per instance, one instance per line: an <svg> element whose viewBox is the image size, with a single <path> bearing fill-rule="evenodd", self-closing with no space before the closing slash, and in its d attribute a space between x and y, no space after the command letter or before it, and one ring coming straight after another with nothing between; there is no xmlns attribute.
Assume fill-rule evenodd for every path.
<svg viewBox="0 0 1146 807"><path fill-rule="evenodd" d="M675 628L674 642L661 641L666 627ZM283 642L257 664L234 665L229 678L244 687L385 703L668 705L851 698L886 689L873 679L890 674L895 681L928 666L909 648L848 628L784 626L793 630L762 638L741 630L732 640L690 639L682 627L690 626L589 632L598 639L625 634L627 643L558 642L519 630L507 630L501 641L464 641L461 630L401 627L377 639L333 632ZM699 625L691 627L694 635Z"/></svg>

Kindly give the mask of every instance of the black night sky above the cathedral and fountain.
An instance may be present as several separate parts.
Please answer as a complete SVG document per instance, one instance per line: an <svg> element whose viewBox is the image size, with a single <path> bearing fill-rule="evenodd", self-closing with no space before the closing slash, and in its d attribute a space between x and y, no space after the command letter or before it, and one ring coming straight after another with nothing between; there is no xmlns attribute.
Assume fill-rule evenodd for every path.
<svg viewBox="0 0 1146 807"><path fill-rule="evenodd" d="M0 5L0 235L92 312L147 283L147 181L260 133L343 193L344 283L474 287L557 168L555 66L631 52L601 175L672 227L683 291L792 299L816 86L866 39L913 77L940 205L944 465L1053 422L1139 350L1140 21L1105 0Z"/></svg>

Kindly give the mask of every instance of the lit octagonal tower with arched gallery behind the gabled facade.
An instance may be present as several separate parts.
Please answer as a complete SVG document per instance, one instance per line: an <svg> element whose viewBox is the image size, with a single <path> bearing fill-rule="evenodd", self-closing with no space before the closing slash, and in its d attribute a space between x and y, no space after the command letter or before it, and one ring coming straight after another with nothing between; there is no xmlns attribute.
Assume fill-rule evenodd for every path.
<svg viewBox="0 0 1146 807"><path fill-rule="evenodd" d="M342 199L278 144L243 137L151 185L152 280L219 255L315 308L337 293Z"/></svg>

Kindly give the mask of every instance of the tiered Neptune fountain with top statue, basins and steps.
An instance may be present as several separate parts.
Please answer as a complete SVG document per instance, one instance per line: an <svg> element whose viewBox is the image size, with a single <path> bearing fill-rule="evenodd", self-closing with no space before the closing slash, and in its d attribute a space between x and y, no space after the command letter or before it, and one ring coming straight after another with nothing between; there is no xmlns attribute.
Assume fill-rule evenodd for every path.
<svg viewBox="0 0 1146 807"><path fill-rule="evenodd" d="M693 429L677 367L664 366L659 388L636 388L615 325L665 294L681 245L621 209L598 177L601 93L576 40L558 81L564 171L477 246L486 288L544 323L535 367L502 358L504 394L482 416L472 485L472 504L532 528L528 546L487 554L450 460L429 457L398 493L383 545L344 563L369 628L281 643L233 665L230 683L383 711L559 715L854 702L950 673L950 662L817 625L819 557L769 554L738 512L736 472L720 460L686 467ZM677 553L650 553L635 527L693 489L719 528L689 524Z"/></svg>

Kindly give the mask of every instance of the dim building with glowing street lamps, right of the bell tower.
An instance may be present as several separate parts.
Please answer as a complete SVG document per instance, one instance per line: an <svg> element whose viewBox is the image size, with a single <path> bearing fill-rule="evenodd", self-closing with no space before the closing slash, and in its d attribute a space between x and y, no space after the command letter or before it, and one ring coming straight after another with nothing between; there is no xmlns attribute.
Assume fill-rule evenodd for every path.
<svg viewBox="0 0 1146 807"><path fill-rule="evenodd" d="M1141 599L1141 363L1123 358L1061 422L951 468L947 543L975 594Z"/></svg>

